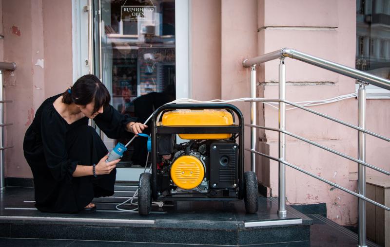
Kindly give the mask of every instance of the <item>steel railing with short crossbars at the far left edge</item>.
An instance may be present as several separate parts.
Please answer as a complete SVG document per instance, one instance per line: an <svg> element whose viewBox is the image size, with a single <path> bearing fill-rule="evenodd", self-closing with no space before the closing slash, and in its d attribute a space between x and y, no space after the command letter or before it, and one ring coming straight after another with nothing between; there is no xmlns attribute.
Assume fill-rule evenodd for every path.
<svg viewBox="0 0 390 247"><path fill-rule="evenodd" d="M4 179L4 150L10 147L4 147L4 126L12 125L12 124L4 124L4 103L10 103L12 101L10 100L4 100L3 96L3 71L9 70L14 71L16 70L16 63L6 63L6 62L0 62L0 193L5 188L5 179Z"/></svg>

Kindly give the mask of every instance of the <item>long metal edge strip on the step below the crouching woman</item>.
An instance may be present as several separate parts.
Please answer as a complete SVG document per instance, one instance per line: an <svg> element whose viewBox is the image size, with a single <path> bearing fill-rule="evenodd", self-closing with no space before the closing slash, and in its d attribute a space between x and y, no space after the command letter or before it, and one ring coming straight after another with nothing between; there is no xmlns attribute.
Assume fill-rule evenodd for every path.
<svg viewBox="0 0 390 247"><path fill-rule="evenodd" d="M154 220L102 219L102 218L75 218L75 217L39 217L39 216L3 216L3 220L35 220L56 222L95 222L95 223L125 223L125 224L155 224Z"/></svg>

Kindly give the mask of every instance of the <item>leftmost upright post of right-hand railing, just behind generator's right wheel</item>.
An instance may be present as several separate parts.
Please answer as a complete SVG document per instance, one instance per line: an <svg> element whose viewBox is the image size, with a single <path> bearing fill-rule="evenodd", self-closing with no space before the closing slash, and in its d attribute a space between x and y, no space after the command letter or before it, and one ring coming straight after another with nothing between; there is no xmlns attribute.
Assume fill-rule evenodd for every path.
<svg viewBox="0 0 390 247"><path fill-rule="evenodd" d="M256 98L256 65L251 67L251 97ZM251 102L251 124L256 125L256 102ZM251 150L256 151L256 128L251 128ZM256 154L251 152L251 171L256 173Z"/></svg>

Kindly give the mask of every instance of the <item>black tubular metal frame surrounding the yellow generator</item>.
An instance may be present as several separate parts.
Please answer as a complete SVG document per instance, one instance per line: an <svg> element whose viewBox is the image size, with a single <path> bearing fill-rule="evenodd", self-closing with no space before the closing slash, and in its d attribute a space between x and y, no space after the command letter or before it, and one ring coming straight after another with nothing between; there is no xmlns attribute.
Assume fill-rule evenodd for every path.
<svg viewBox="0 0 390 247"><path fill-rule="evenodd" d="M226 109L233 111L238 118L238 125L203 125L203 126L163 126L157 125L161 113L179 110L203 110L203 109ZM234 114L232 114L234 117ZM152 198L153 200L192 200L192 201L220 201L220 200L242 200L244 198L244 118L241 111L230 104L170 104L159 107L153 114L151 124L152 139ZM157 189L157 152L159 134L238 134L238 193L236 197L163 197Z"/></svg>

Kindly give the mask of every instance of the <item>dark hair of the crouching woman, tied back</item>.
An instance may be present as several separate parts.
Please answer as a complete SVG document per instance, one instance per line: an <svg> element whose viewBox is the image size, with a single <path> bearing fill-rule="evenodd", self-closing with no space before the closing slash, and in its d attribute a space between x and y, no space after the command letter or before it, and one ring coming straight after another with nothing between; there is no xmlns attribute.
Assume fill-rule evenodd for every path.
<svg viewBox="0 0 390 247"><path fill-rule="evenodd" d="M93 113L98 112L101 106L108 106L110 100L111 96L106 86L93 74L81 76L71 87L70 93L69 89L62 93L62 102L68 105L75 103L85 106L94 101Z"/></svg>

